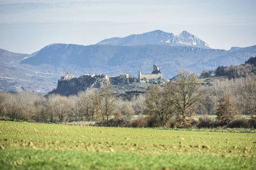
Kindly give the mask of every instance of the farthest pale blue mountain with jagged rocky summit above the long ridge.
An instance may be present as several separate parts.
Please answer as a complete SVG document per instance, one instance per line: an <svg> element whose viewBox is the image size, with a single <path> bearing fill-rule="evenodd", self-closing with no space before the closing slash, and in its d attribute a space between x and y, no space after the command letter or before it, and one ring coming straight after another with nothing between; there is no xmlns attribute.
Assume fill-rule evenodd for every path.
<svg viewBox="0 0 256 170"><path fill-rule="evenodd" d="M197 38L188 31L182 31L178 36L173 33L156 30L143 34L132 34L124 38L109 38L97 43L97 45L118 45L118 46L136 46L136 45L168 45L168 46L195 46L198 48L207 48L209 45Z"/></svg>

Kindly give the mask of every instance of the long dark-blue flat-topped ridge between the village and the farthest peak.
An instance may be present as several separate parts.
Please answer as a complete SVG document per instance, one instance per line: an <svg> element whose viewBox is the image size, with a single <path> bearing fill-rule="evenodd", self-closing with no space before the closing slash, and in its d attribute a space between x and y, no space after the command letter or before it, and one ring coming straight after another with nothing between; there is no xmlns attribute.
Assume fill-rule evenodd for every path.
<svg viewBox="0 0 256 170"><path fill-rule="evenodd" d="M72 68L74 73L105 73L118 75L138 71L152 72L156 63L165 78L175 76L180 69L200 73L203 69L217 66L241 64L256 56L256 46L235 51L195 48L193 46L113 46L113 45L67 45L52 44L34 53L22 64L33 66L49 65L58 68ZM79 71L78 71L79 70ZM83 73L81 73L83 74Z"/></svg>

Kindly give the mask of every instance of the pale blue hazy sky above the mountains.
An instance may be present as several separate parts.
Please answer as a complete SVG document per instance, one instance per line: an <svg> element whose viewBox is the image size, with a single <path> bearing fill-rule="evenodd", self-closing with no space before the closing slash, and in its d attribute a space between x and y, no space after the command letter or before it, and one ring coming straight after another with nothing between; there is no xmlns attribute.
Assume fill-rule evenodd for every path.
<svg viewBox="0 0 256 170"><path fill-rule="evenodd" d="M228 50L256 45L255 9L255 0L0 0L0 48L33 53L160 29Z"/></svg>

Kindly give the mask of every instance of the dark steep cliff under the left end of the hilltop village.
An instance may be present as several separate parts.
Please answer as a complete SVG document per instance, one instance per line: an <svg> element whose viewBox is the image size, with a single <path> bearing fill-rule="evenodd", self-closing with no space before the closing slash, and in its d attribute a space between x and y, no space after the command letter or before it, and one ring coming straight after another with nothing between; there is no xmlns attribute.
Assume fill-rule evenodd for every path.
<svg viewBox="0 0 256 170"><path fill-rule="evenodd" d="M104 74L95 76L83 75L70 80L59 80L57 89L52 90L49 94L61 94L62 96L74 95L88 89L100 89L106 81L109 80Z"/></svg>

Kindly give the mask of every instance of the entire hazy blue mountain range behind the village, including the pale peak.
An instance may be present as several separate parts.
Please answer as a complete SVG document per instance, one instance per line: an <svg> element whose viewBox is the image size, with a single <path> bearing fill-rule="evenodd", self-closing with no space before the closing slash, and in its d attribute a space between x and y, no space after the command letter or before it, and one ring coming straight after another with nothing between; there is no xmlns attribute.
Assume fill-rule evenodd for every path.
<svg viewBox="0 0 256 170"><path fill-rule="evenodd" d="M241 64L255 56L256 45L218 50L187 31L174 36L159 30L104 39L96 45L56 43L32 54L0 50L0 90L46 94L56 87L66 69L75 76L84 73L137 76L138 71L151 73L152 65L157 64L164 78L172 78L182 69L200 73L216 66Z"/></svg>

